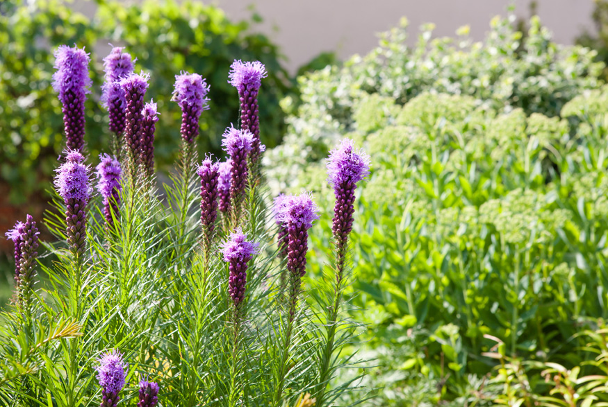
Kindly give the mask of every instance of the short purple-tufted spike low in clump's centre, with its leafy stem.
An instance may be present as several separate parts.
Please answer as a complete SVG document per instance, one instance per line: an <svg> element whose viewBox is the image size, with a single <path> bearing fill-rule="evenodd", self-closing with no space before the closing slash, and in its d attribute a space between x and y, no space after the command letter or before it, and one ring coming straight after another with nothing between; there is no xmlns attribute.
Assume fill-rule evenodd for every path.
<svg viewBox="0 0 608 407"><path fill-rule="evenodd" d="M238 404L240 388L238 386L239 354L240 354L240 330L243 323L243 301L245 300L245 290L247 288L247 263L253 259L258 252L258 243L247 241L247 234L240 229L236 229L229 235L228 240L222 245L224 261L227 261L229 268L228 295L232 304L232 354L229 395L229 406Z"/></svg>

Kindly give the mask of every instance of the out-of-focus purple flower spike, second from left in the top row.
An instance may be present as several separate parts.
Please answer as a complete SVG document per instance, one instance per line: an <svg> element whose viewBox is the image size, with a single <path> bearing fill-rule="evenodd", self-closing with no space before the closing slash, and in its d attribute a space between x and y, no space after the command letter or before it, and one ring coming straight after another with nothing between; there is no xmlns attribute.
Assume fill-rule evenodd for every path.
<svg viewBox="0 0 608 407"><path fill-rule="evenodd" d="M101 87L101 101L108 109L110 131L115 135L124 132L126 98L124 90L120 86L120 80L133 73L131 54L123 52L123 50L122 46L115 46L110 55L104 58L106 83Z"/></svg>

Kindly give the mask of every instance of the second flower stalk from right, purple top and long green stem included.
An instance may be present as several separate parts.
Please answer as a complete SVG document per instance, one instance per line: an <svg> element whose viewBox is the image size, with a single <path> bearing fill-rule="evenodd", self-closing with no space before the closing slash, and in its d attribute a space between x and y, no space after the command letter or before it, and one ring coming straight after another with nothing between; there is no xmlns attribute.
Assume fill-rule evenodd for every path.
<svg viewBox="0 0 608 407"><path fill-rule="evenodd" d="M299 196L283 196L277 200L276 219L287 230L287 295L286 321L281 332L281 359L274 378L274 406L281 405L289 370L289 355L293 342L297 304L302 292L302 277L306 275L308 230L319 218L318 208L310 193Z"/></svg>

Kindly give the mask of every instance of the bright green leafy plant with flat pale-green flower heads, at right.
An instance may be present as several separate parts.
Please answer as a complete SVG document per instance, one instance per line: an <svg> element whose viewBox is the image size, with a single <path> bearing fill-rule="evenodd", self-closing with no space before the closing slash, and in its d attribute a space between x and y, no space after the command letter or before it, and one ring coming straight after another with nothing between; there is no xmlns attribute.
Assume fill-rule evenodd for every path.
<svg viewBox="0 0 608 407"><path fill-rule="evenodd" d="M577 333L608 318L606 98L608 87L584 92L561 118L430 92L354 106L347 136L373 168L356 208L353 301L370 325L365 354L380 363L367 380L387 386L372 405L411 405L425 381L438 383L425 402L485 405L501 391L494 381L473 392L497 363L483 356L488 335L538 363L589 357ZM294 188L331 199L323 164ZM331 214L320 226L318 273L331 258Z"/></svg>

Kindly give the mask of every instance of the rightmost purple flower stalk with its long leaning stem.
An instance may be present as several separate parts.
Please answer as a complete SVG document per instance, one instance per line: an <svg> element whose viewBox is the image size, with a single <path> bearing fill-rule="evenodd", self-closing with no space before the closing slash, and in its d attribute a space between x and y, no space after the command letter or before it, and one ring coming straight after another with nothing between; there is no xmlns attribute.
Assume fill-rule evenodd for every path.
<svg viewBox="0 0 608 407"><path fill-rule="evenodd" d="M332 358L336 350L336 330L338 328L338 313L345 287L347 272L348 236L352 231L354 214L354 191L356 184L368 177L370 173L370 157L362 150L354 148L354 141L344 139L338 148L331 150L327 160L329 183L334 186L336 205L331 231L334 235L335 246L335 281L334 297L327 308L327 331L324 338L324 349L320 358L319 381L315 396L319 406L325 401L325 390L331 379Z"/></svg>

